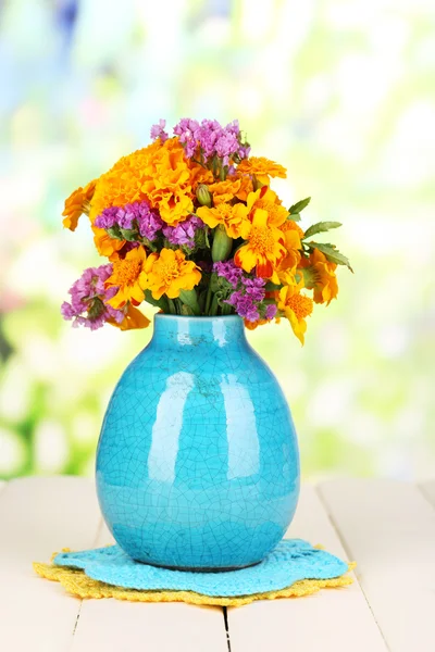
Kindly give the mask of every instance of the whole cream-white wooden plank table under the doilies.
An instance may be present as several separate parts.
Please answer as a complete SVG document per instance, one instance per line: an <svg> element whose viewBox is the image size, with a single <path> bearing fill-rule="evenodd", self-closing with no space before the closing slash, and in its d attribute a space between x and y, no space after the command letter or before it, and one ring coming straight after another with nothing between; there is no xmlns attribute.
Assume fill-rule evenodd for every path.
<svg viewBox="0 0 435 652"><path fill-rule="evenodd" d="M435 481L306 486L288 537L356 560L355 584L238 609L79 600L35 575L53 551L111 542L94 485L0 485L1 652L434 652Z"/></svg>

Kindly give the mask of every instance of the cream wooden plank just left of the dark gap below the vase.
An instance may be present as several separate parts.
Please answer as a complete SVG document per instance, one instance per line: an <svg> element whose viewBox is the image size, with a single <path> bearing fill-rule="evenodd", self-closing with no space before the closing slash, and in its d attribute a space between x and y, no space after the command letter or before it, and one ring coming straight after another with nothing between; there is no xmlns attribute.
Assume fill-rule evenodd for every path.
<svg viewBox="0 0 435 652"><path fill-rule="evenodd" d="M102 527L97 547L113 543ZM220 607L183 603L84 601L72 652L227 652Z"/></svg>

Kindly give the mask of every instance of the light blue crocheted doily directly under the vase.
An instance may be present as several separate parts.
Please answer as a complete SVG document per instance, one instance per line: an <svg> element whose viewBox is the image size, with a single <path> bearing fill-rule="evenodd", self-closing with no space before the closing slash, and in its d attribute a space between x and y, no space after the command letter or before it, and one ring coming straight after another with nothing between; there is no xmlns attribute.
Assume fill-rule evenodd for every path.
<svg viewBox="0 0 435 652"><path fill-rule="evenodd" d="M138 590L196 591L204 595L236 597L290 587L301 579L332 579L347 572L336 556L301 539L285 539L257 566L223 573L170 570L133 561L119 546L62 552L58 566L82 568L88 577Z"/></svg>

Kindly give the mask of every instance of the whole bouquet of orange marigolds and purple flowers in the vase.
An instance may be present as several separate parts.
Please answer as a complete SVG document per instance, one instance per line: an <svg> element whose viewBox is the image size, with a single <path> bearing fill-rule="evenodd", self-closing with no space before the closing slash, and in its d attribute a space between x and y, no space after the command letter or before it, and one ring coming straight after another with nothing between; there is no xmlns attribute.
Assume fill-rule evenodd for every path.
<svg viewBox="0 0 435 652"><path fill-rule="evenodd" d="M312 237L340 224L302 230L310 198L283 206L270 181L286 170L251 156L237 121L183 118L172 137L160 121L151 138L65 201L64 226L87 214L108 262L74 283L64 318L144 328L137 306L148 302L169 314L238 314L248 328L286 317L303 343L314 303L337 297L337 265L350 268Z"/></svg>

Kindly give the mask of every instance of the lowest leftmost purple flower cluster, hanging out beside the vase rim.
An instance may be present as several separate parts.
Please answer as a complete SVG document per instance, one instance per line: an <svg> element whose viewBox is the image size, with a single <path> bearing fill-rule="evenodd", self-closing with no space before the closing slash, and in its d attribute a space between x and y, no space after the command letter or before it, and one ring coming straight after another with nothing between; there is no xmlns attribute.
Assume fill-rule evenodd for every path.
<svg viewBox="0 0 435 652"><path fill-rule="evenodd" d="M116 287L104 289L104 281L112 272L111 264L85 269L69 290L71 303L64 301L61 305L63 318L73 319L74 327L87 326L91 330L100 328L109 319L121 324L124 312L105 303L117 292Z"/></svg>

